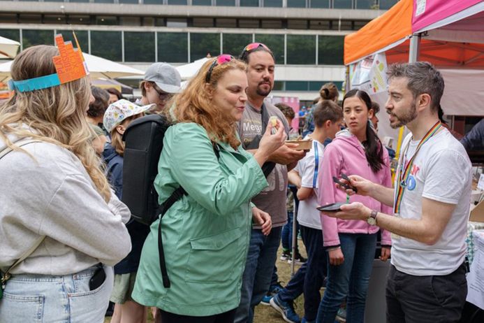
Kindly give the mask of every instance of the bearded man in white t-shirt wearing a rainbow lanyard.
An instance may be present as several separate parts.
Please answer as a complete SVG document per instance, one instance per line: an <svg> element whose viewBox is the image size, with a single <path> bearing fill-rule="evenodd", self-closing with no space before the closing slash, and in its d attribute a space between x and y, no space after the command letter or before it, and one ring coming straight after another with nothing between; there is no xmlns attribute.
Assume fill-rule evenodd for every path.
<svg viewBox="0 0 484 323"><path fill-rule="evenodd" d="M464 257L471 161L440 125L437 108L444 85L434 66L394 64L388 80L390 125L406 125L411 131L402 144L395 189L359 176L350 178L358 194L393 205L396 216L360 203L328 215L366 220L393 233L388 322L458 322L467 295Z"/></svg>

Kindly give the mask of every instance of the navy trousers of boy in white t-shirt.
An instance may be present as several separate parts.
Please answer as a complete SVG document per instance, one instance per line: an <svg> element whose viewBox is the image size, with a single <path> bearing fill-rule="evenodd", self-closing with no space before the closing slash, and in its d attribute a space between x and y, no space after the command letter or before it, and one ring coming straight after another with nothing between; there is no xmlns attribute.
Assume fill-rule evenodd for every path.
<svg viewBox="0 0 484 323"><path fill-rule="evenodd" d="M326 252L323 249L321 230L301 226L302 242L306 246L307 261L302 264L288 285L277 294L284 302L291 302L304 293L305 318L314 321L318 313L321 294L319 290L327 272Z"/></svg>

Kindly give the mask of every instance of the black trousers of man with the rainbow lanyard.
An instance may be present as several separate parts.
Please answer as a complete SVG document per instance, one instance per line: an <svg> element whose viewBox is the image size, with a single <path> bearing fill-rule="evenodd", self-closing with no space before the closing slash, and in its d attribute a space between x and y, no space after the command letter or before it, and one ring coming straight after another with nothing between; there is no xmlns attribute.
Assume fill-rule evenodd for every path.
<svg viewBox="0 0 484 323"><path fill-rule="evenodd" d="M414 276L390 266L386 285L389 323L457 323L467 296L464 264L442 276Z"/></svg>

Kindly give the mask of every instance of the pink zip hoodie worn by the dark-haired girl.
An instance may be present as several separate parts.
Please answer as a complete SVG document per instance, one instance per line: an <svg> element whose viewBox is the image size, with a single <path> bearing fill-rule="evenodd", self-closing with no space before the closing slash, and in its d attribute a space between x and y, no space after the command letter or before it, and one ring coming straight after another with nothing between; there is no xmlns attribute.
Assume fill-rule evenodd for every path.
<svg viewBox="0 0 484 323"><path fill-rule="evenodd" d="M346 193L337 189L332 177L341 178L340 174L360 175L362 178L379 183L386 187L391 187L392 176L390 173L388 152L383 148L384 165L378 173L374 173L369 167L365 156L365 150L358 141L358 138L349 131L339 131L332 143L324 150L323 165L318 178L319 184L319 203L321 206L335 202L346 201ZM353 195L350 203L361 202L372 210L382 213L393 214L393 209L389 206L376 201L369 196ZM323 228L324 246L339 245L338 233L345 234L374 234L379 231L379 227L367 224L361 220L340 220L328 217L321 213L321 227ZM381 244L391 245L390 232L383 230L381 234Z"/></svg>

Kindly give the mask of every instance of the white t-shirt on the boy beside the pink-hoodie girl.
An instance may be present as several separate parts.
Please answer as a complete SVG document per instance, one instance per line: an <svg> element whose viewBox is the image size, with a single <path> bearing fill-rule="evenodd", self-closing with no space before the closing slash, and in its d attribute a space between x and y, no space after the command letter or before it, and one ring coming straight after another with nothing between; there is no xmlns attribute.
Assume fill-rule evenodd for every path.
<svg viewBox="0 0 484 323"><path fill-rule="evenodd" d="M301 187L314 189L308 199L299 202L298 222L305 227L321 230L321 218L318 207L318 172L323 163L324 145L313 139L311 150L295 167L295 171L301 176Z"/></svg>

